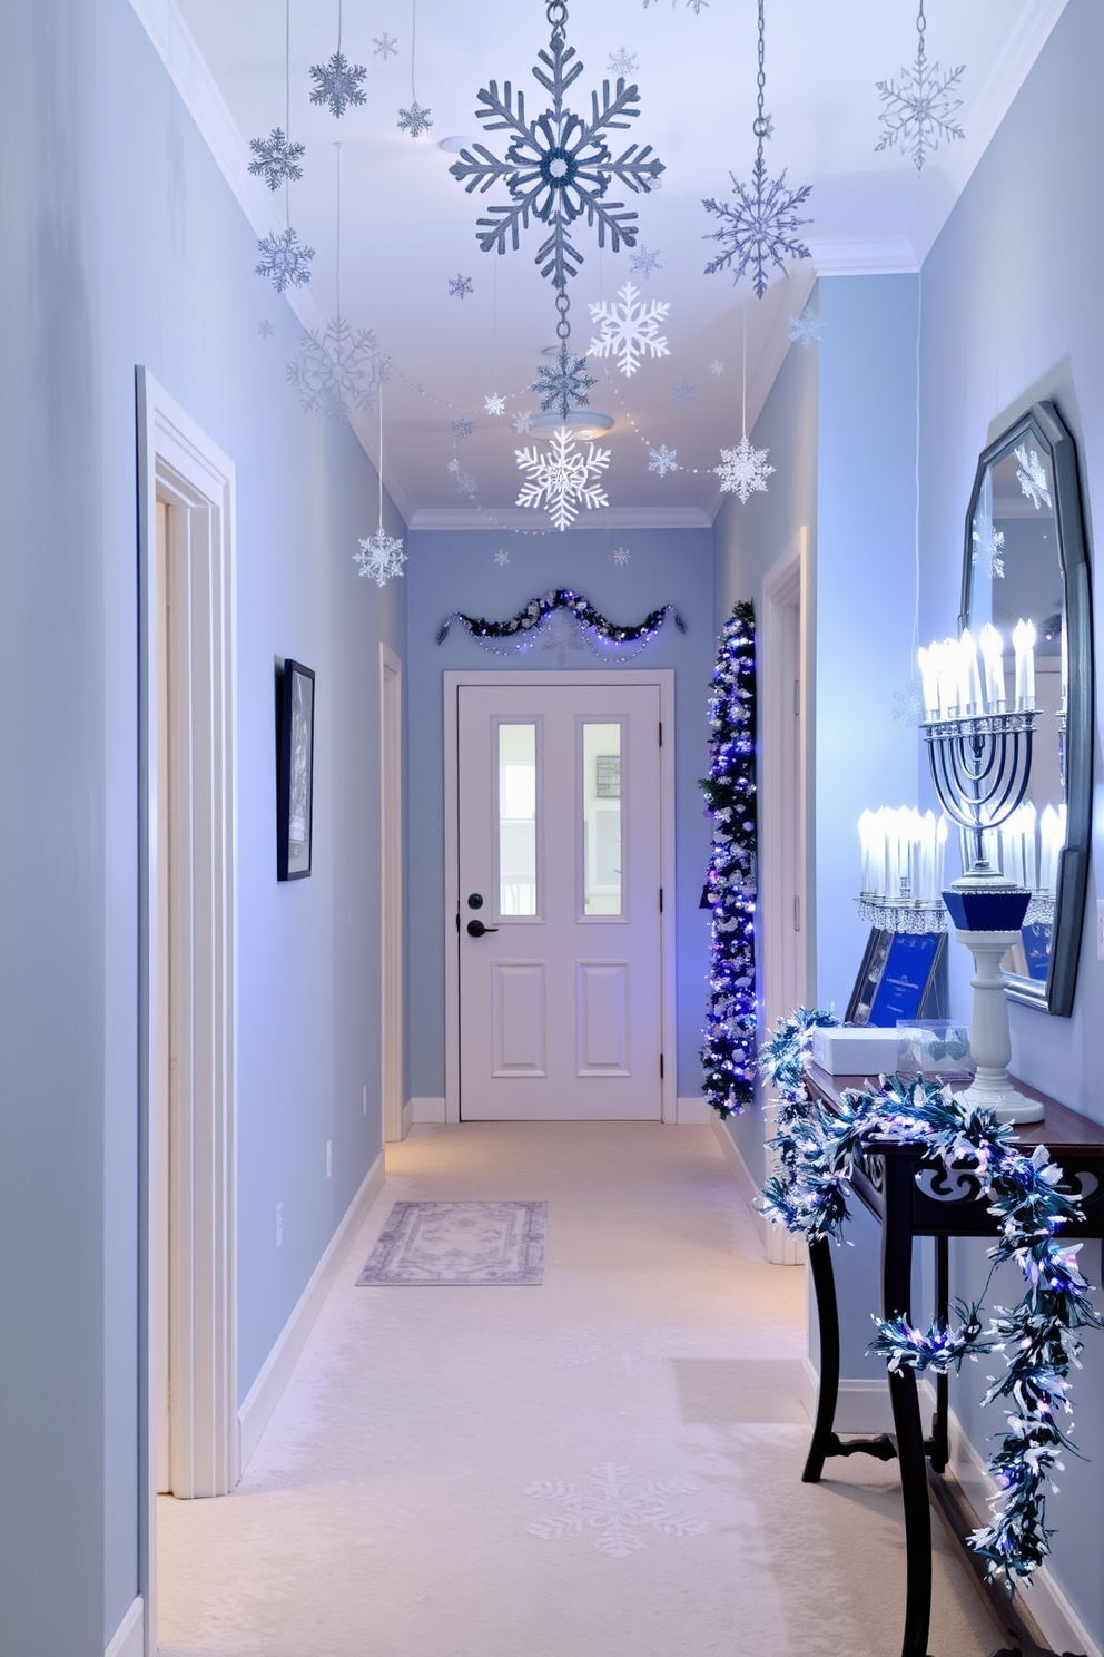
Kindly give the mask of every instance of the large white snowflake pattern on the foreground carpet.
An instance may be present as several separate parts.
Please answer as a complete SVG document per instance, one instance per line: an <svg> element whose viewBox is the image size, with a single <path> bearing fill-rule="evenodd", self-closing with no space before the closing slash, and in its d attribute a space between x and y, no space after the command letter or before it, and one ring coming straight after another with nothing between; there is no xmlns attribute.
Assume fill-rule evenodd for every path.
<svg viewBox="0 0 1104 1657"><path fill-rule="evenodd" d="M526 1526L530 1536L551 1543L581 1536L584 1529L598 1531L594 1546L599 1553L611 1559L629 1559L646 1546L641 1531L652 1529L660 1536L702 1536L708 1531L708 1524L680 1511L675 1503L677 1496L689 1496L697 1490L687 1478L659 1478L636 1488L627 1466L604 1461L591 1468L586 1486L579 1490L561 1478L541 1478L526 1485L526 1496L561 1506L556 1518Z"/></svg>

